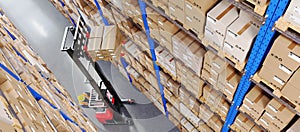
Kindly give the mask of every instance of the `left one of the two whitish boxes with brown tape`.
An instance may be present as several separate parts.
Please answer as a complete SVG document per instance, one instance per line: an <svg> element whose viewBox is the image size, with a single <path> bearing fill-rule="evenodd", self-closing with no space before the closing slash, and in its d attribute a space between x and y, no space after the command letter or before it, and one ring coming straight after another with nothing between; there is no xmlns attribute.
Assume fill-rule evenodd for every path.
<svg viewBox="0 0 300 132"><path fill-rule="evenodd" d="M207 13L205 38L223 48L227 27L237 18L237 8L227 1L221 1Z"/></svg>

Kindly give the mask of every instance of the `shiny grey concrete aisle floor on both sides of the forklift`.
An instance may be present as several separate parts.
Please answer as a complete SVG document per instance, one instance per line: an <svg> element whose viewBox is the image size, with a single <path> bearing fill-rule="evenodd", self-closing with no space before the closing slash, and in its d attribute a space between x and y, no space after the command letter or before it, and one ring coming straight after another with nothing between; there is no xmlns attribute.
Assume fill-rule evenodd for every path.
<svg viewBox="0 0 300 132"><path fill-rule="evenodd" d="M80 93L91 89L85 77L70 57L60 51L64 29L71 25L48 0L0 1L0 8L25 36L31 47L44 59L58 80L76 100ZM162 132L178 131L176 127L118 70L107 62L98 62L122 98L133 98L136 105L126 105L134 125L103 126L94 117L95 111L84 109L101 131Z"/></svg>

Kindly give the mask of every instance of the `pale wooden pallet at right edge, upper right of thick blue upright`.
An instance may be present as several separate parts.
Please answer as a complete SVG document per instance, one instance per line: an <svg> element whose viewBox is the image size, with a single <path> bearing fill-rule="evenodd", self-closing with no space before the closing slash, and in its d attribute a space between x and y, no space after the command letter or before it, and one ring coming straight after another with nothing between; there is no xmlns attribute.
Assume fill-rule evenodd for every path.
<svg viewBox="0 0 300 132"><path fill-rule="evenodd" d="M291 30L292 32L297 32L298 35L300 35L300 27L288 22L286 19L284 19L283 17L280 17L278 19L278 21L275 23L275 27L277 27L278 29L282 30L282 31L288 31Z"/></svg>

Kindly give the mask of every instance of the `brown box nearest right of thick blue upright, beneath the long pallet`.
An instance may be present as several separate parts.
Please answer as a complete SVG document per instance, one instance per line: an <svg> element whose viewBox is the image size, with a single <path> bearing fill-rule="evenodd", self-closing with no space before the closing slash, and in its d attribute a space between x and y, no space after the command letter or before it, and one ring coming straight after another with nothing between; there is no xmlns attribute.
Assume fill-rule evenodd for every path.
<svg viewBox="0 0 300 132"><path fill-rule="evenodd" d="M253 119L258 119L269 101L270 99L264 95L262 89L255 86L247 93L242 107L247 108L244 112L249 113L249 115L253 115ZM242 107L241 109L243 109Z"/></svg>

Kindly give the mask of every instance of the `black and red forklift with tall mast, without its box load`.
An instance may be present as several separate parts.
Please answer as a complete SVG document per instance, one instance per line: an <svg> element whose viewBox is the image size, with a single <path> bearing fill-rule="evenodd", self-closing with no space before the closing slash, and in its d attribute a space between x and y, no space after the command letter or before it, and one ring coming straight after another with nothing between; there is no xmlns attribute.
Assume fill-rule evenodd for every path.
<svg viewBox="0 0 300 132"><path fill-rule="evenodd" d="M90 27L80 16L74 26L65 28L61 51L67 52L93 87L89 93L88 108L96 110L95 117L98 121L103 125L132 125L133 121L124 104L134 104L135 101L134 99L121 99L103 74L101 67L93 62L87 54L86 47L90 31ZM102 80L100 84L96 83L81 59L85 59L93 64L93 68L95 68Z"/></svg>

